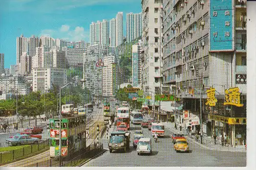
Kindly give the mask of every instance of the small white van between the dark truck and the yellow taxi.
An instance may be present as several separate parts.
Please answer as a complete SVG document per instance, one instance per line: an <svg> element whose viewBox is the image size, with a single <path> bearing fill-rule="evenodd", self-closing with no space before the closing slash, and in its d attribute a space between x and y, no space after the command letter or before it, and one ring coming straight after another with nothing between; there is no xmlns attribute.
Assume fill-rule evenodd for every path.
<svg viewBox="0 0 256 170"><path fill-rule="evenodd" d="M152 154L152 141L151 138L140 138L137 143L137 153Z"/></svg>

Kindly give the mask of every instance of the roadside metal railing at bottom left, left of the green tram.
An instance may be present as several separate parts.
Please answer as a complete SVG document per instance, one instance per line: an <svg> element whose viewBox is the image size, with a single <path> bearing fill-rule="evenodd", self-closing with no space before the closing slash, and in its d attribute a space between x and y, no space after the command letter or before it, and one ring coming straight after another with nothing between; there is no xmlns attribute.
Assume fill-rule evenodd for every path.
<svg viewBox="0 0 256 170"><path fill-rule="evenodd" d="M0 152L0 164L10 163L36 154L38 151L49 149L49 139L42 140L38 144L31 144L20 149Z"/></svg>

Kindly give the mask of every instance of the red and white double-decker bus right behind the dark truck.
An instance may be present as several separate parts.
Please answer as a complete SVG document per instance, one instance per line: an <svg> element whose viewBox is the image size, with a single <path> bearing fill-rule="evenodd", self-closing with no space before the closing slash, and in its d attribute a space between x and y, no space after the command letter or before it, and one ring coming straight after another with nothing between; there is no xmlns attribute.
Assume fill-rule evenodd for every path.
<svg viewBox="0 0 256 170"><path fill-rule="evenodd" d="M127 129L130 129L130 109L129 107L119 107L117 109L117 127L121 125L121 123L125 123Z"/></svg>

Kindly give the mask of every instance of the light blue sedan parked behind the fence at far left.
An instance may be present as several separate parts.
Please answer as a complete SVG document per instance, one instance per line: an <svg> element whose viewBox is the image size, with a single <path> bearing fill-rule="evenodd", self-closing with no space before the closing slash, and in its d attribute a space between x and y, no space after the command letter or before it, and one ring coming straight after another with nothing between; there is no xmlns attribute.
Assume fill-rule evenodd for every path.
<svg viewBox="0 0 256 170"><path fill-rule="evenodd" d="M6 139L6 143L9 143L13 146L22 145L22 144L37 144L40 140L35 137L30 137L27 134L20 135L17 134L13 138Z"/></svg>

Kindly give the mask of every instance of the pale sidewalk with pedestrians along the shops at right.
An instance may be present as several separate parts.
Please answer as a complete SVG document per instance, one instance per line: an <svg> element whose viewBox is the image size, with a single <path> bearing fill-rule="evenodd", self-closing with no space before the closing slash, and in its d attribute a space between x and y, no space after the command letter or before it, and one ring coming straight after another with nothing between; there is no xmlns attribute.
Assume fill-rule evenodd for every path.
<svg viewBox="0 0 256 170"><path fill-rule="evenodd" d="M174 123L163 123L166 129L169 129L173 133L182 133L182 131L179 130L179 128L175 129ZM172 134L170 134L171 136ZM221 146L221 143L219 140L216 141L216 144L214 144L214 141L207 136L203 136L203 144L200 143L200 138L198 141L195 140L194 136L185 135L187 140L196 143L201 148L208 149L208 150L217 150L217 151L230 151L230 152L246 152L244 145L237 145L236 148L230 147L228 145L227 147Z"/></svg>

